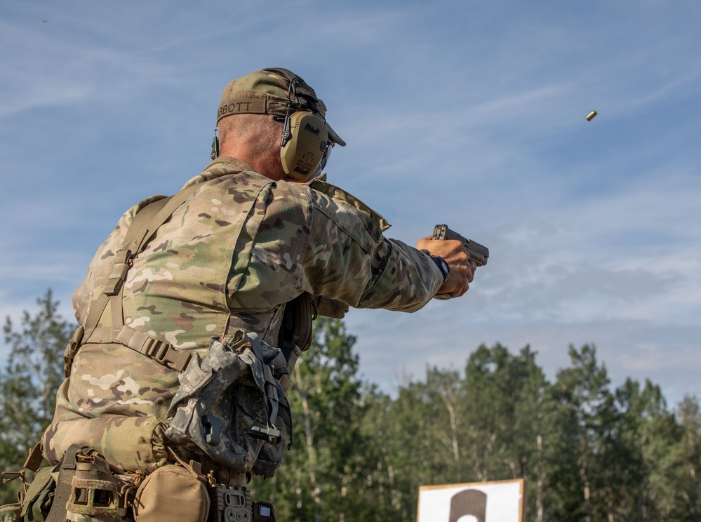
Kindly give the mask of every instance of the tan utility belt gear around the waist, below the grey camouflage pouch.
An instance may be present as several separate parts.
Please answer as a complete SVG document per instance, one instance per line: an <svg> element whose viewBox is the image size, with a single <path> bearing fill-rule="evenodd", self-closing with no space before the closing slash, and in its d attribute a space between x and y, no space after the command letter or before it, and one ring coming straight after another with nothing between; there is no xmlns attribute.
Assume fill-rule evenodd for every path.
<svg viewBox="0 0 701 522"><path fill-rule="evenodd" d="M100 453L71 446L25 483L18 504L0 507L0 521L275 522L273 505L252 502L245 486L218 484L199 463L171 456L151 474L114 474Z"/></svg>

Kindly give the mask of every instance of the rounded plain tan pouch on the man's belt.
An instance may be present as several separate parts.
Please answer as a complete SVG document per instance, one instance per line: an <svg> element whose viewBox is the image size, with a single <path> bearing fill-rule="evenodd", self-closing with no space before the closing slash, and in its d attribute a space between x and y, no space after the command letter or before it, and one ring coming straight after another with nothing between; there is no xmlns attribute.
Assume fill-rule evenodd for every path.
<svg viewBox="0 0 701 522"><path fill-rule="evenodd" d="M147 476L136 491L137 522L205 522L209 494L194 471L168 464Z"/></svg>

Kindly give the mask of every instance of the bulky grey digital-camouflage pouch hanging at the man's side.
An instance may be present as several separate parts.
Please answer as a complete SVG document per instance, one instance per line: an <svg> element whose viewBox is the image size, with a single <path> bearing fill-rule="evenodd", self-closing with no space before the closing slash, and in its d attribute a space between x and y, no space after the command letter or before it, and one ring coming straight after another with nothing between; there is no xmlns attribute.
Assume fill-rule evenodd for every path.
<svg viewBox="0 0 701 522"><path fill-rule="evenodd" d="M271 475L280 462L256 460L273 446L281 461L291 434L290 406L275 376L285 368L280 350L253 333L213 337L208 354L194 355L179 377L166 436L237 473Z"/></svg>

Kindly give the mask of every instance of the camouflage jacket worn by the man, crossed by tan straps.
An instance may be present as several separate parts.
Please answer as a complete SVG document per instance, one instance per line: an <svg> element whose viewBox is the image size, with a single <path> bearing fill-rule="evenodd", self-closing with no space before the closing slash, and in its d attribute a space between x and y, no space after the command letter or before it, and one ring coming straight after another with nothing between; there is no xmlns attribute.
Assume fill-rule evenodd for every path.
<svg viewBox="0 0 701 522"><path fill-rule="evenodd" d="M443 283L428 255L386 239L380 215L333 185L274 182L219 158L185 187L192 196L135 258L123 290L124 323L203 354L237 328L276 344L285 304L302 292L352 307L413 312ZM135 213L130 208L74 293L85 324ZM109 308L109 307L108 307ZM98 330L112 327L109 311ZM152 471L166 460L163 424L178 373L118 343L88 342L58 393L44 456L72 443L99 448L116 469Z"/></svg>

